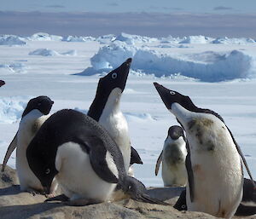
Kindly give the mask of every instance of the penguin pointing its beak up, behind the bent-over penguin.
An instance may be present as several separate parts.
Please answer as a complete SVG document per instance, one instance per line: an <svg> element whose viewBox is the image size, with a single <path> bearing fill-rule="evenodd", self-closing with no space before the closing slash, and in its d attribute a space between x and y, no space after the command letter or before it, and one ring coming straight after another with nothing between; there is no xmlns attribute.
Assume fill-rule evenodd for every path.
<svg viewBox="0 0 256 219"><path fill-rule="evenodd" d="M128 172L131 161L131 141L128 124L120 111L120 100L125 89L130 66L131 58L105 77L100 78L95 99L87 113L90 118L102 124L116 141L124 157L126 172Z"/></svg>

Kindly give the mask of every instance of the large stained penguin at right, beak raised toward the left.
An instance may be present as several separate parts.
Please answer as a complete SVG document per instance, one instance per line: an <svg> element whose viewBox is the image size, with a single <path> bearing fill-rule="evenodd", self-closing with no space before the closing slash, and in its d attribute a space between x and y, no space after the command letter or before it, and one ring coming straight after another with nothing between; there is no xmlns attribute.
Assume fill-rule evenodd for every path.
<svg viewBox="0 0 256 219"><path fill-rule="evenodd" d="M154 86L186 132L188 210L225 218L234 216L242 198L241 159L255 185L241 149L223 118L212 110L196 107L189 96L157 83Z"/></svg>

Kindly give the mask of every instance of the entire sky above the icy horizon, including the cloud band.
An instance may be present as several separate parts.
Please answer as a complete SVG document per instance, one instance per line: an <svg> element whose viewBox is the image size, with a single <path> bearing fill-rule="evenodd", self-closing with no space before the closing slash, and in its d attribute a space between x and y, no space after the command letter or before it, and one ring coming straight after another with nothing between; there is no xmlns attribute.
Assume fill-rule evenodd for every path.
<svg viewBox="0 0 256 219"><path fill-rule="evenodd" d="M0 0L0 34L256 38L255 0ZM90 3L88 3L90 2Z"/></svg>

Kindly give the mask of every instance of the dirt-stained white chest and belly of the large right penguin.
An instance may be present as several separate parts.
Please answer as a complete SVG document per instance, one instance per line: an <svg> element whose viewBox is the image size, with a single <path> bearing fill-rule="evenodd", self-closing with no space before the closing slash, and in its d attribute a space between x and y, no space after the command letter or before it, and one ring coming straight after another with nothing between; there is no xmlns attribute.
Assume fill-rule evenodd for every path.
<svg viewBox="0 0 256 219"><path fill-rule="evenodd" d="M224 216L218 211L228 212L241 199L243 176L236 145L226 126L214 118L194 120L186 133L195 180L195 202L189 200L189 210ZM212 183L218 185L217 191L212 190ZM204 209L199 208L202 203Z"/></svg>

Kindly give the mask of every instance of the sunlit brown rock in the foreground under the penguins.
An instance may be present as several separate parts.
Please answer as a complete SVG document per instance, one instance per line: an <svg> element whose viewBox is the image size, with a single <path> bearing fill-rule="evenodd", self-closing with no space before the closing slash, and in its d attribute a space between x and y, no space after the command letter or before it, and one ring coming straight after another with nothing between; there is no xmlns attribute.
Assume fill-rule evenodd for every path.
<svg viewBox="0 0 256 219"><path fill-rule="evenodd" d="M2 167L0 166L0 169ZM150 188L148 193L155 198L174 204L180 188ZM165 193L165 196L163 196ZM113 219L113 218L215 218L201 212L178 211L172 206L151 205L132 199L74 207L60 203L44 203L44 195L32 196L21 193L15 170L6 167L0 173L0 218L1 219ZM245 218L245 217L243 217ZM256 218L248 217L248 218Z"/></svg>

